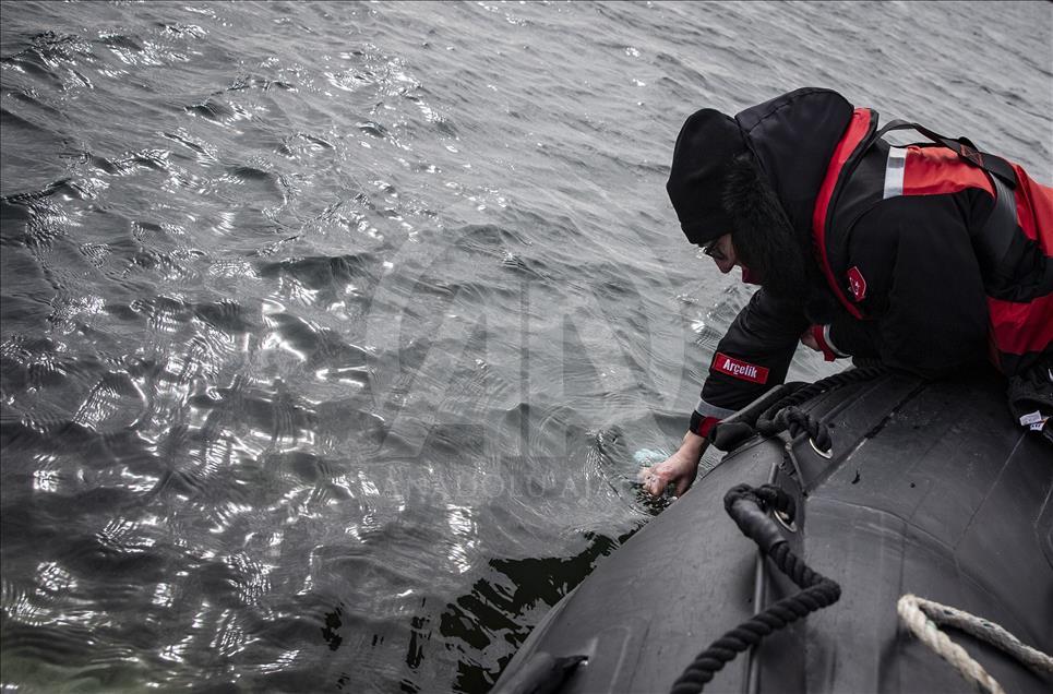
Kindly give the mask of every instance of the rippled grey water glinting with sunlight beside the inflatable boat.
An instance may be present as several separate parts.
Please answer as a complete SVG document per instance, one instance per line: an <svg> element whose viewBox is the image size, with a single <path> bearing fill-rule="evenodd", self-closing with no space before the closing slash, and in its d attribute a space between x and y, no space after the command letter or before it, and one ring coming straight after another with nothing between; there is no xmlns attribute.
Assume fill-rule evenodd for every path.
<svg viewBox="0 0 1053 694"><path fill-rule="evenodd" d="M695 108L830 86L1053 180L1049 3L2 14L10 690L487 690L749 298L665 195Z"/></svg>

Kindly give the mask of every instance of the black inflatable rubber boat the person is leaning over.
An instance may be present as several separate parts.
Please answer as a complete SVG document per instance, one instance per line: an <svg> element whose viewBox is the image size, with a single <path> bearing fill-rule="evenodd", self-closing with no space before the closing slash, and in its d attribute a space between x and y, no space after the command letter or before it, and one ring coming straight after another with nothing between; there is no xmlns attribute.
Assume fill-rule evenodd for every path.
<svg viewBox="0 0 1053 694"><path fill-rule="evenodd" d="M900 623L905 594L1053 653L1053 446L1010 420L1004 383L813 386L795 400L780 386L727 422L721 463L545 617L494 692L669 692L699 651L800 594L726 513L741 484L791 500L789 513L756 507L840 596L719 668L706 692L976 691ZM764 414L786 424L786 403L797 426L774 433ZM1003 650L948 635L1006 692L1053 691Z"/></svg>

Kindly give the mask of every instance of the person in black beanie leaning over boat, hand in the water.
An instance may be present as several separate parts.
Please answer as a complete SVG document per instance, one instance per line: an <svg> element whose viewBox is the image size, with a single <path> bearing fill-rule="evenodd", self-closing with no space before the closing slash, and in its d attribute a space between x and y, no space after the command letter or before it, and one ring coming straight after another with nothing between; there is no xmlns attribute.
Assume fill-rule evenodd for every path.
<svg viewBox="0 0 1053 694"><path fill-rule="evenodd" d="M933 379L993 362L1013 416L1053 440L1053 189L967 140L886 128L933 143L889 146L874 110L821 88L687 118L667 183L681 228L759 289L680 450L642 472L650 494L691 487L714 426L782 383L799 342Z"/></svg>

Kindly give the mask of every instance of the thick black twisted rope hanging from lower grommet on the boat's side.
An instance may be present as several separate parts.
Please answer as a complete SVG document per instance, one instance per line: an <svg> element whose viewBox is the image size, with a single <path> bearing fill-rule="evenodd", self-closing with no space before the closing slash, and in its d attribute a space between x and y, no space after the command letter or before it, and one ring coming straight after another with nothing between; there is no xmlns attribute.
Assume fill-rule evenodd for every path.
<svg viewBox="0 0 1053 694"><path fill-rule="evenodd" d="M743 535L757 543L761 552L770 557L783 574L802 588L797 595L782 598L763 612L753 615L727 632L698 654L672 686L672 694L697 694L723 666L740 653L759 644L766 636L783 629L806 614L837 602L841 587L812 571L797 554L766 511L777 511L792 520L793 498L774 484L753 488L739 484L723 498L728 515Z"/></svg>

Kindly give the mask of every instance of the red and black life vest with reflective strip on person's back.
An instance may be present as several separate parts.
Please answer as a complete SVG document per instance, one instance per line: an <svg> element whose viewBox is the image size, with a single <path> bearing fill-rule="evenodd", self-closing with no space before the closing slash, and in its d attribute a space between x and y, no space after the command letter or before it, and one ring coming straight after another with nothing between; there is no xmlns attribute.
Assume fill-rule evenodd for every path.
<svg viewBox="0 0 1053 694"><path fill-rule="evenodd" d="M880 136L877 113L855 109L834 149L812 218L815 254L827 284L851 315L866 320L860 306L865 280L854 267L846 267L845 253L834 240L845 238L859 216L882 200L981 189L996 201L986 226L973 238L988 290L992 359L1012 370L1008 362L1020 355L1048 352L1053 345L1053 189L1036 183L1019 165L976 152L968 141L948 141L914 128L949 146L892 146ZM993 163L998 168L990 166ZM1044 268L1004 266L1004 251L1012 235L1019 234L1039 246ZM1012 286L1021 272L1030 272L1026 286ZM993 290L995 286L1000 289Z"/></svg>

